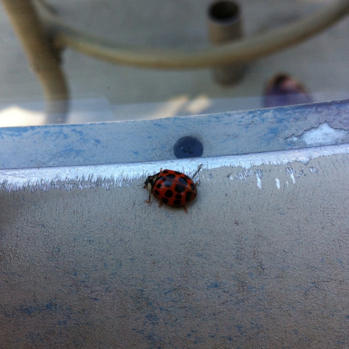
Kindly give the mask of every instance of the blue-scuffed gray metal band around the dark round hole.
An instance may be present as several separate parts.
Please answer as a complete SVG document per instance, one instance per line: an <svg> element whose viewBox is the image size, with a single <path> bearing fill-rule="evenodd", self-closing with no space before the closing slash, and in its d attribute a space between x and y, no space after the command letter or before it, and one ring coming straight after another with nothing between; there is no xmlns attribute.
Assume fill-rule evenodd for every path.
<svg viewBox="0 0 349 349"><path fill-rule="evenodd" d="M194 117L81 125L0 128L0 168L164 161L187 135L203 156L247 154L309 146L299 138L328 124L349 142L349 103L337 101ZM322 144L315 144L322 145Z"/></svg>

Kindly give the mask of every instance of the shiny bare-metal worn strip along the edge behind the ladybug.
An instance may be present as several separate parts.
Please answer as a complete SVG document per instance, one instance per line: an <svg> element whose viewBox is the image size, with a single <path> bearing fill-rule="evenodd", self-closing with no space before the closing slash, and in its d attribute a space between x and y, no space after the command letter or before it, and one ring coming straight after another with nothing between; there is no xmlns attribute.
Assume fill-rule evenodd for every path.
<svg viewBox="0 0 349 349"><path fill-rule="evenodd" d="M47 168L26 168L0 170L0 190L8 192L19 190L49 189L72 190L94 187L128 186L134 180L147 177L162 169L181 171L192 175L198 165L202 170L220 167L242 168L260 165L285 165L292 162L308 164L310 160L323 156L349 154L349 143L206 158L187 158L171 161L121 163L107 165L62 166Z"/></svg>

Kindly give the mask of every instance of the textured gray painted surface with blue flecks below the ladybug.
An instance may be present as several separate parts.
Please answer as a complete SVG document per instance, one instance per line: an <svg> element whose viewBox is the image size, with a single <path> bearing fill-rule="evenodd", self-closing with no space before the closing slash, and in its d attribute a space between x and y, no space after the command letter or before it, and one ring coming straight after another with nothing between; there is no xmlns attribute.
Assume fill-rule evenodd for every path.
<svg viewBox="0 0 349 349"><path fill-rule="evenodd" d="M3 347L348 348L348 166L205 170L188 214L0 191Z"/></svg>

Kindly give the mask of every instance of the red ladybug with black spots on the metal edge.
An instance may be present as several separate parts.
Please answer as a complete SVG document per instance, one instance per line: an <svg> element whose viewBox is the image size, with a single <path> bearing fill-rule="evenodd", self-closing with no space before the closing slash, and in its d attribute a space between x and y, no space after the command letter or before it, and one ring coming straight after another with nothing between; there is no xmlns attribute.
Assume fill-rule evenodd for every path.
<svg viewBox="0 0 349 349"><path fill-rule="evenodd" d="M184 207L196 198L196 183L186 174L173 170L162 170L154 176L149 176L144 182L144 188L148 188L149 200L153 194L160 201L172 207Z"/></svg>

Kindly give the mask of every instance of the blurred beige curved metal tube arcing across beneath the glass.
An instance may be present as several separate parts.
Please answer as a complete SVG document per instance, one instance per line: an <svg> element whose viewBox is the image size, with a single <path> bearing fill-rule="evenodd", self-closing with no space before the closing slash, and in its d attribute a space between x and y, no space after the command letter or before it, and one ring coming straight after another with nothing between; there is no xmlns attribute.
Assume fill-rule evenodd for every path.
<svg viewBox="0 0 349 349"><path fill-rule="evenodd" d="M43 6L40 6L40 9L43 20L53 30L54 41L58 46L67 46L111 63L147 68L188 69L243 63L302 42L347 15L349 0L331 3L309 17L265 34L193 52L175 49L139 49L119 45L76 30Z"/></svg>

